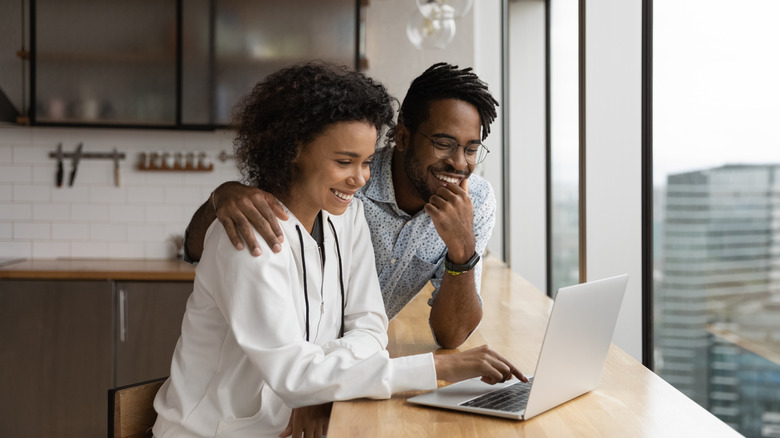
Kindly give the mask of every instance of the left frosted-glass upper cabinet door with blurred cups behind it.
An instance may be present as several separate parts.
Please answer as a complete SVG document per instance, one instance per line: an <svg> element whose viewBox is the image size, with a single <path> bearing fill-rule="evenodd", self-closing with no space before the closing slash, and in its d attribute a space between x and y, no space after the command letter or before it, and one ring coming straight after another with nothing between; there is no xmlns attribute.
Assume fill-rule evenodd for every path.
<svg viewBox="0 0 780 438"><path fill-rule="evenodd" d="M174 126L175 0L35 0L36 123Z"/></svg>

